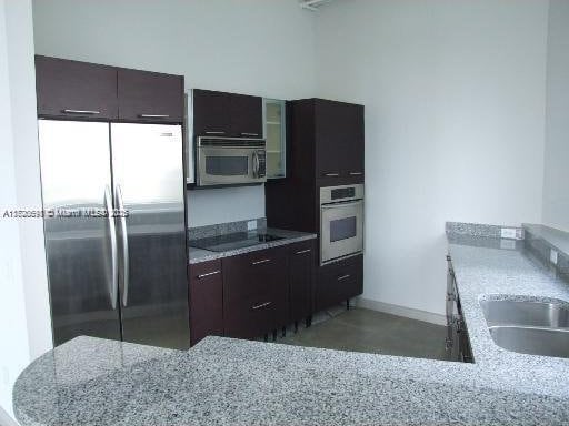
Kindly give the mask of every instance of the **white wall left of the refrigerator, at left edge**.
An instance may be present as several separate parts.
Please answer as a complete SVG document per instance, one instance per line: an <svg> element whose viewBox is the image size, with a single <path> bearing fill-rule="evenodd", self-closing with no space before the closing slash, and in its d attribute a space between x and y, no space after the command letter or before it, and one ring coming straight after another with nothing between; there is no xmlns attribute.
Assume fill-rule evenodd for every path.
<svg viewBox="0 0 569 426"><path fill-rule="evenodd" d="M11 415L18 374L51 348L41 220L3 217L41 207L28 0L0 0L0 406Z"/></svg>

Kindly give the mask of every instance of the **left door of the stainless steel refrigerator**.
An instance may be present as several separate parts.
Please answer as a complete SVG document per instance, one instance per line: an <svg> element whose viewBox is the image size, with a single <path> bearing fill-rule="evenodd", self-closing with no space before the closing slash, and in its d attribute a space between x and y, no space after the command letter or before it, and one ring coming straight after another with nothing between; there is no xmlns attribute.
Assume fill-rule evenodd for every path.
<svg viewBox="0 0 569 426"><path fill-rule="evenodd" d="M39 120L39 143L54 344L120 339L109 124Z"/></svg>

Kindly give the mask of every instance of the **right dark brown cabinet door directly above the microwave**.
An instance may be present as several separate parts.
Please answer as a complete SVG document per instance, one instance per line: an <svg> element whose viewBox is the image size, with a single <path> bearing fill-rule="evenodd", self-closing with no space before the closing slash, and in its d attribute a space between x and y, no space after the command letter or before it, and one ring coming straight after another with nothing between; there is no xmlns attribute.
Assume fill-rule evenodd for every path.
<svg viewBox="0 0 569 426"><path fill-rule="evenodd" d="M230 132L236 138L262 138L262 98L231 94Z"/></svg>

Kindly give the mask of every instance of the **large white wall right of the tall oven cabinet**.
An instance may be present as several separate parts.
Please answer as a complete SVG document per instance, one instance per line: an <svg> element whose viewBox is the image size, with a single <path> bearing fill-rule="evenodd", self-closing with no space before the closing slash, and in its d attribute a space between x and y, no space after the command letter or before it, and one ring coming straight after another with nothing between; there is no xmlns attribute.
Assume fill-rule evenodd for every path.
<svg viewBox="0 0 569 426"><path fill-rule="evenodd" d="M540 222L548 2L350 0L317 87L366 105L363 297L443 313L445 222Z"/></svg>

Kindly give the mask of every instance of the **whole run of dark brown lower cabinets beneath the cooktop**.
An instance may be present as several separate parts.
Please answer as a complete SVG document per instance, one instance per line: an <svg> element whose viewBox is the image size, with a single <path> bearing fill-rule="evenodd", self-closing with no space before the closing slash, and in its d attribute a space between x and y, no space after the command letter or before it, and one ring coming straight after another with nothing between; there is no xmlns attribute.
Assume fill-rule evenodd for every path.
<svg viewBox="0 0 569 426"><path fill-rule="evenodd" d="M257 338L312 314L315 241L190 265L191 345Z"/></svg>

